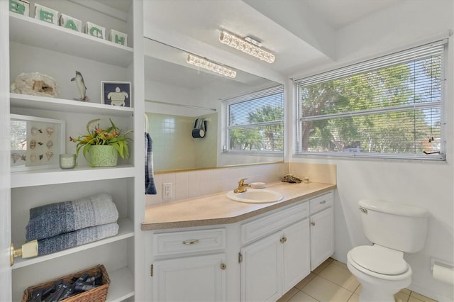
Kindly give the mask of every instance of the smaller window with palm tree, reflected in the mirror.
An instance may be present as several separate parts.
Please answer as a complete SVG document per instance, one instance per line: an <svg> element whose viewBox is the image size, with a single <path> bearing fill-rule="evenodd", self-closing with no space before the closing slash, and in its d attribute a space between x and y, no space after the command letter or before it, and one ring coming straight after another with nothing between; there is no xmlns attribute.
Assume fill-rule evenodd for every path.
<svg viewBox="0 0 454 302"><path fill-rule="evenodd" d="M226 112L224 152L284 152L284 86L223 101Z"/></svg>

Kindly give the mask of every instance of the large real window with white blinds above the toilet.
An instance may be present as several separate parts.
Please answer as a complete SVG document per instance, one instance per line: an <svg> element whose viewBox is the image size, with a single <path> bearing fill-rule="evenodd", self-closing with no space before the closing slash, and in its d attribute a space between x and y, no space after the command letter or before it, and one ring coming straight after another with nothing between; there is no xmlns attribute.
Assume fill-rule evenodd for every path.
<svg viewBox="0 0 454 302"><path fill-rule="evenodd" d="M298 155L444 160L445 41L294 82Z"/></svg>

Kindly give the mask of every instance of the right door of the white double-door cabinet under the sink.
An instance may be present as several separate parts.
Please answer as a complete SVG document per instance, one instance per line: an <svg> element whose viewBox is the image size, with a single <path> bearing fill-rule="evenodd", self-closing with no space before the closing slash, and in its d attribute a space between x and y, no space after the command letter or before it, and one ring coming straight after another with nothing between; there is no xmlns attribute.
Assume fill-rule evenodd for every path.
<svg viewBox="0 0 454 302"><path fill-rule="evenodd" d="M310 272L309 219L282 230L284 244L283 293L292 289Z"/></svg>

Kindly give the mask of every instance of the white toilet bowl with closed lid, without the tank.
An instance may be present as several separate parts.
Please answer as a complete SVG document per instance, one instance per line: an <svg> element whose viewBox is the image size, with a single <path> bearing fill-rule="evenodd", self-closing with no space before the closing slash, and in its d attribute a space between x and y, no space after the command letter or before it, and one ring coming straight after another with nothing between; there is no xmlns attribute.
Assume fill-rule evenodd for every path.
<svg viewBox="0 0 454 302"><path fill-rule="evenodd" d="M347 267L361 284L360 301L394 302L394 294L411 284L411 267L404 253L362 245L347 254Z"/></svg>

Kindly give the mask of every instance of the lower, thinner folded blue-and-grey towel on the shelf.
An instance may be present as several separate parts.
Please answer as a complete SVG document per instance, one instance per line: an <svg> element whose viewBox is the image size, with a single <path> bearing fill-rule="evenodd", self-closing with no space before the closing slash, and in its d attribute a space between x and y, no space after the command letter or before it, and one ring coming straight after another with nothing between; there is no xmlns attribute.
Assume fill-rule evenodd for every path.
<svg viewBox="0 0 454 302"><path fill-rule="evenodd" d="M109 223L41 239L38 240L38 256L59 252L61 250L69 249L70 247L77 247L78 245L84 245L106 237L115 236L117 233L118 224Z"/></svg>

